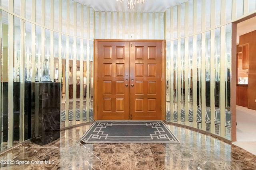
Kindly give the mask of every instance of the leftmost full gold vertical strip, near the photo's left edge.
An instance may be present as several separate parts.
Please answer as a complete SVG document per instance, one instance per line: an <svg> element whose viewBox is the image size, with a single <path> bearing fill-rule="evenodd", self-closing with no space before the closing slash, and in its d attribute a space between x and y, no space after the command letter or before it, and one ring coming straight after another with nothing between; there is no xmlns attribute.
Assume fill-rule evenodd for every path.
<svg viewBox="0 0 256 170"><path fill-rule="evenodd" d="M9 8L13 9L13 1L9 1ZM14 44L13 44L13 16L8 14L8 144L7 147L12 147L13 141L13 57L14 57ZM2 50L2 49L1 49Z"/></svg>

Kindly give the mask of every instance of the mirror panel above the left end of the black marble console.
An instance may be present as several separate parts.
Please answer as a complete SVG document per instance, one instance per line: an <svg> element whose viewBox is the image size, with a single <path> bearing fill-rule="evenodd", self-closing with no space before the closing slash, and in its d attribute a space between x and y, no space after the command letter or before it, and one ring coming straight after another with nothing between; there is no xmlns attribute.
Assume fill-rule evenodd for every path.
<svg viewBox="0 0 256 170"><path fill-rule="evenodd" d="M32 33L31 29L32 24L30 22L25 21L25 81L31 82L32 75L32 51L31 51L31 41L32 41Z"/></svg>

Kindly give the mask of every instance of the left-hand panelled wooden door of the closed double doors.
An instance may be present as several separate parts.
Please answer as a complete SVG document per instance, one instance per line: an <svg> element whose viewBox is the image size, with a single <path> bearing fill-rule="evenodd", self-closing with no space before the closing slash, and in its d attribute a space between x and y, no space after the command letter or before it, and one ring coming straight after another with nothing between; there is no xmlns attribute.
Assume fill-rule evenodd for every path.
<svg viewBox="0 0 256 170"><path fill-rule="evenodd" d="M128 120L129 43L98 42L98 119ZM126 81L126 79L128 81Z"/></svg>

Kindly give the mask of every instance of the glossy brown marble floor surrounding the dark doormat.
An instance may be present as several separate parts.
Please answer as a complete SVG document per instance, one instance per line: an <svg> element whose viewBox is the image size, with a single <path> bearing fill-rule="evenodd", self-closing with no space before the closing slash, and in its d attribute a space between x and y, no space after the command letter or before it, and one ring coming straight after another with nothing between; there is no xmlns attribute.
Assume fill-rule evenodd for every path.
<svg viewBox="0 0 256 170"><path fill-rule="evenodd" d="M179 144L86 144L89 125L61 131L44 146L26 143L0 155L2 169L240 170L256 169L256 156L233 144L167 125ZM20 165L19 165L20 164Z"/></svg>

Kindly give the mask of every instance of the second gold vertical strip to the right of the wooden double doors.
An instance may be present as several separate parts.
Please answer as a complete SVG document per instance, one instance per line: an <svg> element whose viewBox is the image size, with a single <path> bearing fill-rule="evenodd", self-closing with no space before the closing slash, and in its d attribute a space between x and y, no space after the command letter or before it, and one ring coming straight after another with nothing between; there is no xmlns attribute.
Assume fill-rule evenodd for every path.
<svg viewBox="0 0 256 170"><path fill-rule="evenodd" d="M177 110L177 115L178 115L178 123L181 123L181 54L180 54L180 39L178 39L178 44L177 44L177 89L178 89L178 93L177 93L177 106L178 106L178 110Z"/></svg>

